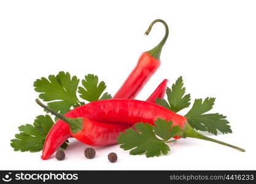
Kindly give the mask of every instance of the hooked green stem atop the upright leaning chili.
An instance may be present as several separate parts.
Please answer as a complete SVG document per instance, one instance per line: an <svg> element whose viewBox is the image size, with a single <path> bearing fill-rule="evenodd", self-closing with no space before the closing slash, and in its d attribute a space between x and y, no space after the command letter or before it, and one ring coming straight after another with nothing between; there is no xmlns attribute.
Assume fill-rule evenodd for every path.
<svg viewBox="0 0 256 184"><path fill-rule="evenodd" d="M147 51L147 53L149 53L151 56L153 56L153 58L156 59L160 59L160 55L161 55L161 50L163 48L163 45L165 45L165 42L168 38L169 35L169 28L168 25L166 24L165 21L161 20L161 19L157 19L152 21L152 23L150 24L149 28L147 29L147 31L145 31L145 35L148 35L152 29L152 26L157 23L157 22L161 22L163 23L163 25L165 26L165 36L163 37L163 39L161 40L161 42L155 46L154 48L152 48L151 50Z"/></svg>

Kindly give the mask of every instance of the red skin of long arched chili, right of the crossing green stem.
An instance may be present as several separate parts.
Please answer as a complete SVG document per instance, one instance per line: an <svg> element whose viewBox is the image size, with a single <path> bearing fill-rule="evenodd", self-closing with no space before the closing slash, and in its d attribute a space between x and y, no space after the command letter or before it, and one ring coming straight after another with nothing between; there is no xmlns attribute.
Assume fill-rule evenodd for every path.
<svg viewBox="0 0 256 184"><path fill-rule="evenodd" d="M153 124L157 118L172 120L173 125L184 126L185 117L152 102L136 99L106 99L91 102L71 110L76 117L88 118L102 123L134 125L140 121Z"/></svg>

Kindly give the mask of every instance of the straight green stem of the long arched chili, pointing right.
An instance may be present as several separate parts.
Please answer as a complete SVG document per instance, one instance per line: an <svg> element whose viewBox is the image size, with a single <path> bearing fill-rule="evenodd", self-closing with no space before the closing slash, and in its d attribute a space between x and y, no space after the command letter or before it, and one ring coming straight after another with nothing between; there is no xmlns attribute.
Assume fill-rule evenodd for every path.
<svg viewBox="0 0 256 184"><path fill-rule="evenodd" d="M217 144L225 145L227 147L235 148L236 150L239 150L239 151L242 151L242 152L246 151L242 148L236 147L235 145L227 144L227 143L222 142L220 140L215 140L215 139L212 139L210 137L206 137L203 134L200 134L200 132L195 131L195 129L193 129L192 126L190 126L188 124L188 122L186 122L184 124L184 127L182 128L182 131L183 131L183 137L192 137L192 138L196 138L196 139L208 140L208 141L211 141L211 142L215 142Z"/></svg>

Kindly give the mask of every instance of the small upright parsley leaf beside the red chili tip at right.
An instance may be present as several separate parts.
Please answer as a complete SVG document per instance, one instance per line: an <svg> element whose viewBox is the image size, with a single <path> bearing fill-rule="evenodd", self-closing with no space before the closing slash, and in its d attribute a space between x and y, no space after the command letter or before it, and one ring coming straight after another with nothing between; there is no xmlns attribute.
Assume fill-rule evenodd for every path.
<svg viewBox="0 0 256 184"><path fill-rule="evenodd" d="M156 99L157 104L172 110L173 112L179 112L182 109L187 108L190 105L190 94L185 94L185 87L183 87L183 80L180 76L173 86L166 89L168 102L165 99Z"/></svg>

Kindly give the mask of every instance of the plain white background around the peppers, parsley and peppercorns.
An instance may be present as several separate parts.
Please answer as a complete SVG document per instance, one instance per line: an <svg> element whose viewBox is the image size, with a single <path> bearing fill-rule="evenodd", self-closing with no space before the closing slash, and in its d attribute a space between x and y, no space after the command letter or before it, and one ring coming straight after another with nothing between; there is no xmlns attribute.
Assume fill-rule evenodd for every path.
<svg viewBox="0 0 256 184"><path fill-rule="evenodd" d="M255 1L1 1L0 169L256 169L255 148ZM192 99L217 98L212 112L227 115L233 134L211 136L246 152L196 140L170 144L167 156L131 156L118 145L96 148L69 144L66 159L43 161L41 153L10 147L18 126L33 123L43 112L34 99L33 82L68 71L80 79L93 73L114 94L139 55L154 47L165 29L169 39L161 67L137 99L146 99L163 79L169 86L182 75ZM186 110L181 112L184 115ZM109 152L118 162L107 160Z"/></svg>

